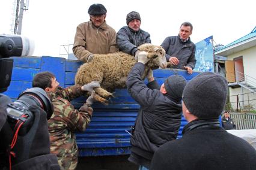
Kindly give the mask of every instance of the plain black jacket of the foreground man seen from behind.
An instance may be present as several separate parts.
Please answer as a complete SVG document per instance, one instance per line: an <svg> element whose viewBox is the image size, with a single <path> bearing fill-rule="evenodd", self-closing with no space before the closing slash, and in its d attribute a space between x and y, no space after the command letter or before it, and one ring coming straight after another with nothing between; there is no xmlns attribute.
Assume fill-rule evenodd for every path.
<svg viewBox="0 0 256 170"><path fill-rule="evenodd" d="M218 120L194 120L183 130L183 137L162 145L154 154L150 170L252 170L256 151L244 139L231 135Z"/></svg>

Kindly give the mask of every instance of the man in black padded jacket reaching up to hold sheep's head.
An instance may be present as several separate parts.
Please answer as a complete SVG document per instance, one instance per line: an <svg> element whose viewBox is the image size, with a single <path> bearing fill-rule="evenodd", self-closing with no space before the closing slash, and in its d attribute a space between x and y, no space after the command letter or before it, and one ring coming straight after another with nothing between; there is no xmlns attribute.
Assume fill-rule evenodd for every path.
<svg viewBox="0 0 256 170"><path fill-rule="evenodd" d="M132 145L129 161L149 168L154 151L165 142L177 138L181 120L181 94L186 80L180 75L166 78L160 90L156 81L148 86L141 79L144 64L148 62L147 52L141 51L127 77L127 89L133 99L141 106L132 130Z"/></svg>

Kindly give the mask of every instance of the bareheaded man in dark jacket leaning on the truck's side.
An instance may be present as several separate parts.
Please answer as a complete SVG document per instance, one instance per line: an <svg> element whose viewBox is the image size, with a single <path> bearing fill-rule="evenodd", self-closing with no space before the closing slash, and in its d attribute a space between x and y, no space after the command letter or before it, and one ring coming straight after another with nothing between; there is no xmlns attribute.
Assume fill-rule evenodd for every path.
<svg viewBox="0 0 256 170"><path fill-rule="evenodd" d="M190 22L184 22L180 26L177 36L165 38L161 46L166 51L166 60L173 65L173 68L186 69L192 74L195 68L195 44L190 40L193 26Z"/></svg>

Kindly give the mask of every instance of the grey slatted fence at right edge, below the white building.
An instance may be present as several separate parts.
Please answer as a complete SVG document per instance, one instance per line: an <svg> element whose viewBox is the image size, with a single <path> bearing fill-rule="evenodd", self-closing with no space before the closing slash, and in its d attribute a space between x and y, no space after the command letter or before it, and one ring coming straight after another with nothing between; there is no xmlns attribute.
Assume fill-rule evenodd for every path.
<svg viewBox="0 0 256 170"><path fill-rule="evenodd" d="M255 113L230 113L236 129L256 129L256 114Z"/></svg>

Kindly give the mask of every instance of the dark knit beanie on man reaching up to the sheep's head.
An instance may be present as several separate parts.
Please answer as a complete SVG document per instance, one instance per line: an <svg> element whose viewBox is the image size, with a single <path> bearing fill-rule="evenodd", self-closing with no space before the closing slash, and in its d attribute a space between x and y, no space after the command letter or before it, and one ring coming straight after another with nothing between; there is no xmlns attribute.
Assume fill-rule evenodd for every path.
<svg viewBox="0 0 256 170"><path fill-rule="evenodd" d="M167 95L176 102L181 101L182 92L186 84L187 81L181 75L171 75L166 78L164 83Z"/></svg>

